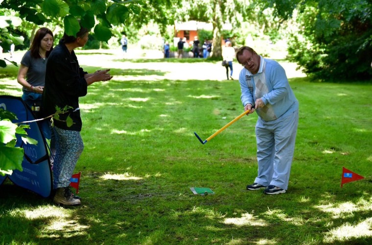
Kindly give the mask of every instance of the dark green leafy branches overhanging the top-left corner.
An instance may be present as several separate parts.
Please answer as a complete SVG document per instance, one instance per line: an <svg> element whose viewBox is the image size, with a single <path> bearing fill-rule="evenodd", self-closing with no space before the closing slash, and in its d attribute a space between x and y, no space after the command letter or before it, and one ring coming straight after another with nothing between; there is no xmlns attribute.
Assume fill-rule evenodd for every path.
<svg viewBox="0 0 372 245"><path fill-rule="evenodd" d="M95 37L99 41L107 42L112 36L112 27L125 24L128 16L140 13L141 1L134 0L3 0L1 8L14 10L19 18L35 25L46 23L60 23L64 31L70 36L75 36L80 29L79 21L86 28L93 28ZM0 11L0 16L5 12ZM7 20L8 26L14 25L11 16ZM7 50L13 43L23 44L23 37L8 32L6 27L1 29L1 47ZM0 66L6 66L0 60Z"/></svg>

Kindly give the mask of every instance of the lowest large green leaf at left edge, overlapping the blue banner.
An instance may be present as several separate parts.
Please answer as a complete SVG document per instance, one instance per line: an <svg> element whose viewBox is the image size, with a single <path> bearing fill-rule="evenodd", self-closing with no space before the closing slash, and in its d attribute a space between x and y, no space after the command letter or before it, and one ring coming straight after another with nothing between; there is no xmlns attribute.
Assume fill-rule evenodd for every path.
<svg viewBox="0 0 372 245"><path fill-rule="evenodd" d="M23 148L0 146L0 172L22 171Z"/></svg>

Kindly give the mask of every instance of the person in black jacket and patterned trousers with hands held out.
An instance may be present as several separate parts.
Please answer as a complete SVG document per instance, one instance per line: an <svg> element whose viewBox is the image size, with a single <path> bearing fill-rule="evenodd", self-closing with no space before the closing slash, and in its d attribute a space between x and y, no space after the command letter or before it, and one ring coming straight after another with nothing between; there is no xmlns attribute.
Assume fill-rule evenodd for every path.
<svg viewBox="0 0 372 245"><path fill-rule="evenodd" d="M63 205L79 205L80 198L74 196L69 188L70 178L77 160L83 152L80 131L79 97L87 94L87 87L94 82L111 80L110 70L87 73L79 66L73 49L84 47L88 41L90 29L81 27L76 37L66 33L59 44L50 53L46 63L45 88L43 91L43 114L55 114L58 108L67 112L59 114L59 120L53 120L56 155L53 166L53 202ZM72 125L67 121L72 119Z"/></svg>

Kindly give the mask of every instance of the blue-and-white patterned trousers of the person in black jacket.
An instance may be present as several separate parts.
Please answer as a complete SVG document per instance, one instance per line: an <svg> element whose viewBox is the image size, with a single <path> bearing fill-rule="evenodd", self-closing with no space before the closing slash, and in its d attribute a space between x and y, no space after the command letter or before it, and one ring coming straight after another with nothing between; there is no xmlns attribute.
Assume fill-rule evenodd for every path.
<svg viewBox="0 0 372 245"><path fill-rule="evenodd" d="M68 187L77 160L84 149L79 131L53 127L56 154L53 165L53 188Z"/></svg>

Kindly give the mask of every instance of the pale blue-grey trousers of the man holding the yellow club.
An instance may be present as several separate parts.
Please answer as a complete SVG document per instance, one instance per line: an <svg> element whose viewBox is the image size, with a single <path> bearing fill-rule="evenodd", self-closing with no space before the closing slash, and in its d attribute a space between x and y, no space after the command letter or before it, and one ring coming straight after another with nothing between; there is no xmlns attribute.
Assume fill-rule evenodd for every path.
<svg viewBox="0 0 372 245"><path fill-rule="evenodd" d="M287 190L295 151L298 110L274 121L256 123L258 174L255 183Z"/></svg>

